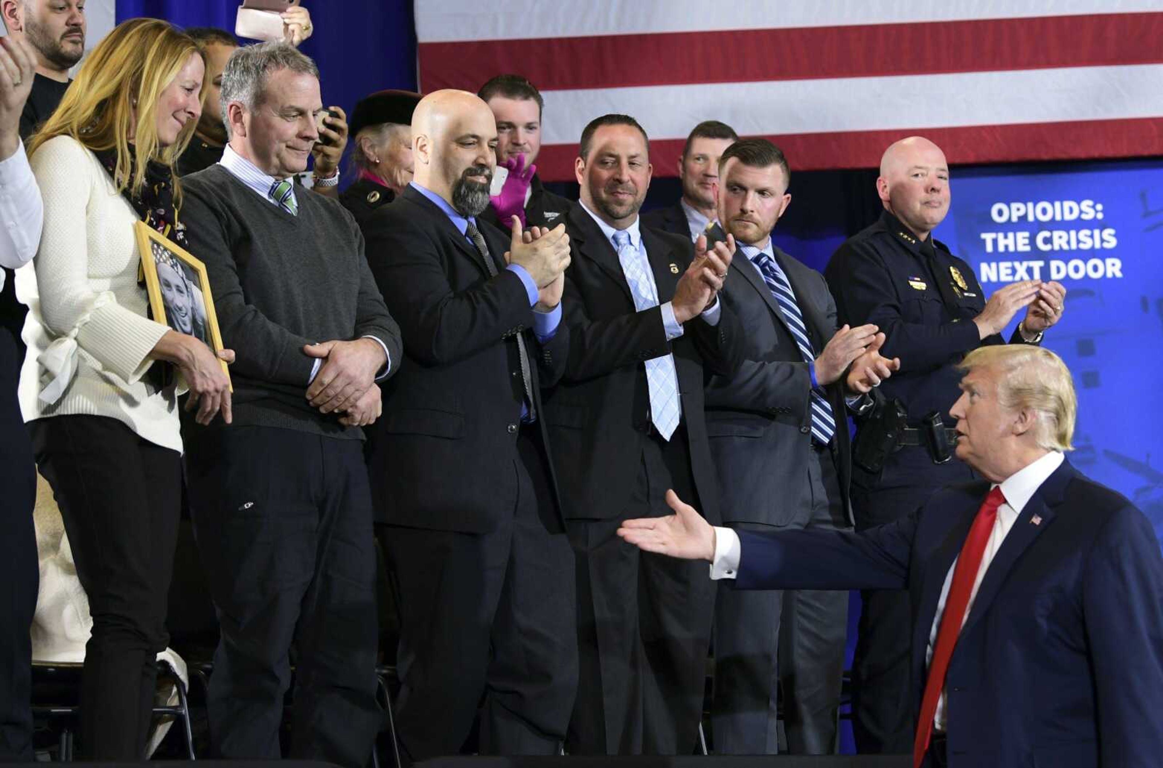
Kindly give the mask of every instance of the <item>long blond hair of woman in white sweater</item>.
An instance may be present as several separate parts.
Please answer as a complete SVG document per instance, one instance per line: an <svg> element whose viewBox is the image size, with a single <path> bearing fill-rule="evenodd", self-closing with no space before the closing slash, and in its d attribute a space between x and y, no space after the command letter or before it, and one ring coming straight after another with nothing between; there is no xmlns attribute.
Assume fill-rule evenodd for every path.
<svg viewBox="0 0 1163 768"><path fill-rule="evenodd" d="M81 64L56 112L29 141L29 153L57 136L71 136L94 152L115 149L114 185L117 192L129 189L135 196L145 186L147 165L159 162L173 175L178 203L181 192L174 163L190 144L198 121L186 123L178 141L163 148L157 137L157 103L191 53L201 56L205 64L198 44L170 22L130 19L117 24ZM201 98L206 98L205 80Z"/></svg>

